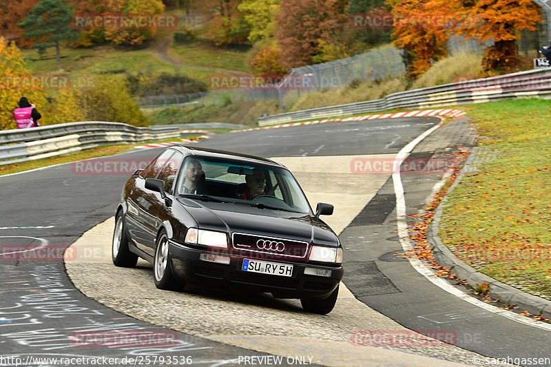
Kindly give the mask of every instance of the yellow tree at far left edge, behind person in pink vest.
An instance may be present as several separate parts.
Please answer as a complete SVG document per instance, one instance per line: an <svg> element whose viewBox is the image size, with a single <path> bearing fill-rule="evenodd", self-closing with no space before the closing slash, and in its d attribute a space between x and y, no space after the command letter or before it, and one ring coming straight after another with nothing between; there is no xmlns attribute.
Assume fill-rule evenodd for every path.
<svg viewBox="0 0 551 367"><path fill-rule="evenodd" d="M0 129L17 128L13 110L18 107L22 96L35 103L37 108L45 105L45 93L29 82L31 77L19 48L0 36Z"/></svg>

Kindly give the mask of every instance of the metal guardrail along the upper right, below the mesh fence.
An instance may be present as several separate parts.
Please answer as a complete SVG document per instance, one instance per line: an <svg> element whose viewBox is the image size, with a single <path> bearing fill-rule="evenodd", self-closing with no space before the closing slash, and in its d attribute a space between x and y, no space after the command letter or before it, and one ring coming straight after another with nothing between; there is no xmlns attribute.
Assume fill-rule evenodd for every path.
<svg viewBox="0 0 551 367"><path fill-rule="evenodd" d="M258 119L258 125L267 126L291 121L351 116L395 108L426 109L528 97L551 98L551 68L398 92L374 101L263 116Z"/></svg>

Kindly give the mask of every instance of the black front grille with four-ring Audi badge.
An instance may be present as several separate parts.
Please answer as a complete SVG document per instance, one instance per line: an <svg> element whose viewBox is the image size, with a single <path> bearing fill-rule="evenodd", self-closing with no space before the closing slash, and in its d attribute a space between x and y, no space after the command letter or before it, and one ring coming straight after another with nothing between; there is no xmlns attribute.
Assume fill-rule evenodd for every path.
<svg viewBox="0 0 551 367"><path fill-rule="evenodd" d="M233 233L231 238L234 252L260 260L304 260L308 253L308 242L304 241L249 233Z"/></svg>

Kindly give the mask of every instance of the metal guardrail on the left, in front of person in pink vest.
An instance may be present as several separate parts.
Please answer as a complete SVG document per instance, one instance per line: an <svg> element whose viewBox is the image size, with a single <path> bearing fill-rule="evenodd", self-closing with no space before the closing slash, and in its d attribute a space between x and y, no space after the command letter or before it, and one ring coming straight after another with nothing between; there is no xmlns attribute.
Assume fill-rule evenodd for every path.
<svg viewBox="0 0 551 367"><path fill-rule="evenodd" d="M135 127L87 121L0 132L0 165L72 153L111 143L140 143L180 136L177 126Z"/></svg>

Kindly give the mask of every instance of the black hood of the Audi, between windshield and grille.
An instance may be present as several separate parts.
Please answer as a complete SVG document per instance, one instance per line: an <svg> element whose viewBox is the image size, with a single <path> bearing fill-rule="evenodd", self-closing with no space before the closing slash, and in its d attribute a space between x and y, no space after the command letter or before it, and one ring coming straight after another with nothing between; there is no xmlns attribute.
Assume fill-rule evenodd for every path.
<svg viewBox="0 0 551 367"><path fill-rule="evenodd" d="M326 246L338 244L337 235L325 222L306 214L243 204L178 201L202 229L288 238Z"/></svg>

